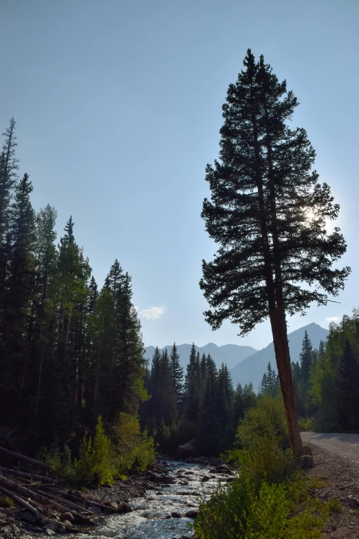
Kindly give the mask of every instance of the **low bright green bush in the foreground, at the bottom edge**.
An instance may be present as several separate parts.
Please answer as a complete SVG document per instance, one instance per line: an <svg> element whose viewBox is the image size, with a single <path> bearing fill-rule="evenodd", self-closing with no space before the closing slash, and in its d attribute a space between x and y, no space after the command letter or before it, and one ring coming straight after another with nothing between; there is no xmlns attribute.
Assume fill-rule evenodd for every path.
<svg viewBox="0 0 359 539"><path fill-rule="evenodd" d="M301 487L303 498L306 484ZM295 516L294 509L298 503L285 485L262 481L257 490L248 478L239 478L229 486L219 485L200 505L195 535L198 539L320 539L327 518L323 504L303 503Z"/></svg>

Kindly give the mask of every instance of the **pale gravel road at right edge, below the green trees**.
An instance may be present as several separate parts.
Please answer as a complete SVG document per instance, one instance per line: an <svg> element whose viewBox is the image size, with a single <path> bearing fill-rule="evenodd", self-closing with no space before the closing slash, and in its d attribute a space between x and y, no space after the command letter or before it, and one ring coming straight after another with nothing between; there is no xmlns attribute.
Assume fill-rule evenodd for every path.
<svg viewBox="0 0 359 539"><path fill-rule="evenodd" d="M322 434L320 432L301 432L303 443L308 440L313 445L349 458L353 464L359 465L359 434Z"/></svg>

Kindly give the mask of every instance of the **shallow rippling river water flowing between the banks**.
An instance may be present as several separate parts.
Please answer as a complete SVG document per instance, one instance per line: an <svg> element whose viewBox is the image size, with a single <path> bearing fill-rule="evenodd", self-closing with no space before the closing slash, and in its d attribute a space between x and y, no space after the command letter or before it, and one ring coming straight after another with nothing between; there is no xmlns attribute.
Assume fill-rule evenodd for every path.
<svg viewBox="0 0 359 539"><path fill-rule="evenodd" d="M218 480L231 480L226 467L208 464L166 461L166 474L171 485L158 485L146 490L142 498L129 499L133 512L106 516L96 528L76 534L78 539L172 539L192 536L188 526L199 505L199 496L210 495ZM188 514L193 511L193 516Z"/></svg>

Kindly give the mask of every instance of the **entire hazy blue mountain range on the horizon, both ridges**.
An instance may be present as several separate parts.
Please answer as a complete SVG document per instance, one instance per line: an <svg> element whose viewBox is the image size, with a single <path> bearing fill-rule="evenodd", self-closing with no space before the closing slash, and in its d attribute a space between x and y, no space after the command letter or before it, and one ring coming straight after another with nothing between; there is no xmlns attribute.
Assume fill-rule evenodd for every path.
<svg viewBox="0 0 359 539"><path fill-rule="evenodd" d="M308 337L312 341L313 348L318 348L320 341L325 341L327 335L329 335L328 330L314 323L289 333L288 341L290 345L290 358L292 361L298 361L299 359L305 330L307 330ZM160 348L160 352L165 348L169 355L172 345ZM185 372L191 348L191 344L177 345L179 361L182 367L184 367ZM217 344L214 343L208 343L206 346L195 346L195 348L199 352L199 355L202 355L203 353L206 355L210 354L217 367L221 366L222 362L226 363L230 369L233 385L235 387L237 383L244 385L245 383L252 382L254 390L257 390L263 374L267 369L268 362L270 361L272 367L276 368L276 359L272 342L265 348L262 348L262 350L255 350L252 346L239 346L237 344L217 346ZM145 357L149 359L150 363L154 352L154 346L147 346Z"/></svg>

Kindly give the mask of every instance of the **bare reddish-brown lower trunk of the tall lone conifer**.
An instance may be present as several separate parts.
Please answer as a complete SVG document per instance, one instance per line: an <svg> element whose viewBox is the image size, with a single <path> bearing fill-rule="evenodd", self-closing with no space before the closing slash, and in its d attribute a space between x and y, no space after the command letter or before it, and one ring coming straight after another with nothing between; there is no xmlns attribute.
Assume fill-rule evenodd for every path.
<svg viewBox="0 0 359 539"><path fill-rule="evenodd" d="M290 350L284 309L277 308L270 313L270 324L272 326L276 367L281 383L285 416L287 417L290 447L298 457L303 455L303 446L298 425L298 414L296 413L296 399L292 379L292 368L290 366Z"/></svg>

